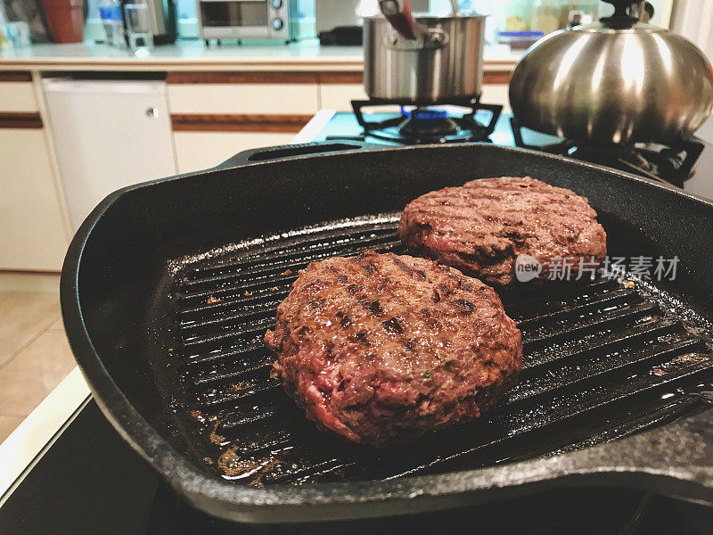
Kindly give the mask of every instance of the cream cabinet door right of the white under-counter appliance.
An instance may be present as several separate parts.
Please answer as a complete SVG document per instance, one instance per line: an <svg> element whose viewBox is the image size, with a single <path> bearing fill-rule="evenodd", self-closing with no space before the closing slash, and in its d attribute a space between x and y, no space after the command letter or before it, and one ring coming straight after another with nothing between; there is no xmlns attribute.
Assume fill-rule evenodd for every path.
<svg viewBox="0 0 713 535"><path fill-rule="evenodd" d="M174 132L178 172L210 169L237 152L288 144L293 132Z"/></svg>

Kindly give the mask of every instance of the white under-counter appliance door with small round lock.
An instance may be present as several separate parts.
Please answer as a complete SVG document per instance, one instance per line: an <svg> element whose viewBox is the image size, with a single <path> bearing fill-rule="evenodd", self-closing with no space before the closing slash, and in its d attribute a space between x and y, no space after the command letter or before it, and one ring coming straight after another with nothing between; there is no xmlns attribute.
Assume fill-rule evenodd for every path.
<svg viewBox="0 0 713 535"><path fill-rule="evenodd" d="M45 78L44 85L75 230L109 193L176 174L163 81Z"/></svg>

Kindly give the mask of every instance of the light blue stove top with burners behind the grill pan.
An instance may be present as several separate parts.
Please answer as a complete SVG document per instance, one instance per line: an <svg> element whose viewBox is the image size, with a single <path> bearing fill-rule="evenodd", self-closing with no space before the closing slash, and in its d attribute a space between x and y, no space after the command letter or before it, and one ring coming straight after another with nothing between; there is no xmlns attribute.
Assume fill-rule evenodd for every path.
<svg viewBox="0 0 713 535"><path fill-rule="evenodd" d="M430 107L399 107L365 112L389 101L353 101L354 112L332 116L315 141L359 140L376 144L409 145L485 142L561 154L605 165L653 180L684 187L706 147L696 139L675 147L636 144L627 147L576 144L520 128L502 106L484 103L447 103ZM394 107L393 103L390 103Z"/></svg>

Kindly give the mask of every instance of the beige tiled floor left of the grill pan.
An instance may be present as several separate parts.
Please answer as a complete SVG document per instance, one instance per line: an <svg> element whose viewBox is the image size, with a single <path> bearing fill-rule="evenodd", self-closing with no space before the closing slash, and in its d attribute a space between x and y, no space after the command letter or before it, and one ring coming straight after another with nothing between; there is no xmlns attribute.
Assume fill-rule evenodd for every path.
<svg viewBox="0 0 713 535"><path fill-rule="evenodd" d="M59 276L0 274L0 442L74 366Z"/></svg>

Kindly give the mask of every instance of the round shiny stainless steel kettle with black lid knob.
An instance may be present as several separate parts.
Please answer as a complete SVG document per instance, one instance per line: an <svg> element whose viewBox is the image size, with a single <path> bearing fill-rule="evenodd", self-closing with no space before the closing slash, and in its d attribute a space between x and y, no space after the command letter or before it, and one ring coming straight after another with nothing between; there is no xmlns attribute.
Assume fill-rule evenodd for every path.
<svg viewBox="0 0 713 535"><path fill-rule="evenodd" d="M522 57L510 82L515 118L602 144L690 136L713 111L710 63L684 37L631 16L639 3L607 2L611 17L554 32Z"/></svg>

